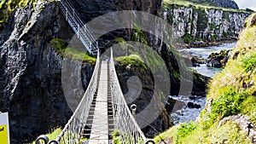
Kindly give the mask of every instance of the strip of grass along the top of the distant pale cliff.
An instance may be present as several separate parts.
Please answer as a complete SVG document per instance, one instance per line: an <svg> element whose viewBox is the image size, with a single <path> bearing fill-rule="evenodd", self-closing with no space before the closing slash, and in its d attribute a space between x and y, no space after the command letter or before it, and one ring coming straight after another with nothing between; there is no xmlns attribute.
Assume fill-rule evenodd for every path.
<svg viewBox="0 0 256 144"><path fill-rule="evenodd" d="M219 9L219 10L224 10L224 11L228 11L228 12L251 14L251 12L247 12L246 10L243 10L243 9L221 8L221 7L218 7L217 4L211 3L211 2L205 1L205 0L200 0L198 3L189 2L189 1L186 1L186 0L164 0L164 4L166 6L168 6L170 4L176 4L176 5L184 6L184 7L195 7L196 9L198 9L198 8L202 8L202 9Z"/></svg>

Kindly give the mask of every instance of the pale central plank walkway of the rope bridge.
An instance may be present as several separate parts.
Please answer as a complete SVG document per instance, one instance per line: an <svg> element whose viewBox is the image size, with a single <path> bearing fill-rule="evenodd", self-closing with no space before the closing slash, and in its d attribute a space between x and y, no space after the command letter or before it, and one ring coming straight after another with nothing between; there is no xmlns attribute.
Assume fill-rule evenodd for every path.
<svg viewBox="0 0 256 144"><path fill-rule="evenodd" d="M102 61L89 144L108 144L108 63Z"/></svg>

